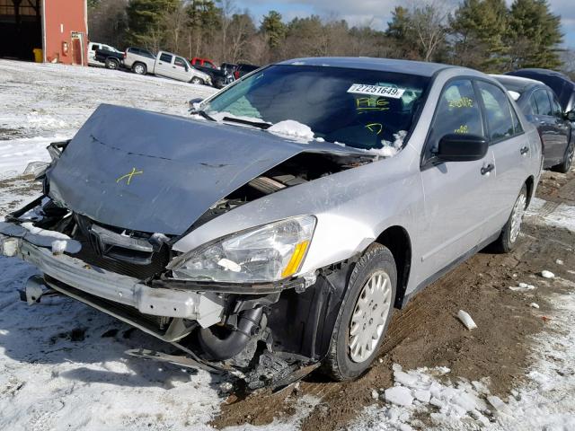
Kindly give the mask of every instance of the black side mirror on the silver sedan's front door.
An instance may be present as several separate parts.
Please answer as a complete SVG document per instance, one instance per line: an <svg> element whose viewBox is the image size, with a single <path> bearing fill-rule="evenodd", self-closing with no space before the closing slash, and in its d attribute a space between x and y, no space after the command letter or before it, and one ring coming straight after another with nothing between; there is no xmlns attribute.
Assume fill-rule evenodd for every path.
<svg viewBox="0 0 575 431"><path fill-rule="evenodd" d="M473 162L485 157L488 148L483 136L450 133L439 140L435 155L443 162Z"/></svg>

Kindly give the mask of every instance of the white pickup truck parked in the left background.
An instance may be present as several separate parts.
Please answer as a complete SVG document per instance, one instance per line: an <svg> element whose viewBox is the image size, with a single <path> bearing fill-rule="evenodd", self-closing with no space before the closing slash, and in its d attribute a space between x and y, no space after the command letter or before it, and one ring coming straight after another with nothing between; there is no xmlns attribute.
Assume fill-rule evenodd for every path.
<svg viewBox="0 0 575 431"><path fill-rule="evenodd" d="M191 84L211 85L211 78L190 65L184 57L171 52L159 51L156 56L144 48L128 48L124 66L137 75L159 75Z"/></svg>

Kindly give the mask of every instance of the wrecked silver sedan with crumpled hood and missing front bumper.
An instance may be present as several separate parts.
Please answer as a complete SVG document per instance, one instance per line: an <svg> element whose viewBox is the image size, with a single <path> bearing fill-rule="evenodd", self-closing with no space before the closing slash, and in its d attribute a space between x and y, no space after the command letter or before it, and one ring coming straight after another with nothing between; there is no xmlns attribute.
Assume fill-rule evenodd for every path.
<svg viewBox="0 0 575 431"><path fill-rule="evenodd" d="M304 58L192 118L102 105L50 146L44 194L0 225L53 290L177 346L140 356L282 385L377 356L392 313L491 244L517 244L541 141L471 69Z"/></svg>

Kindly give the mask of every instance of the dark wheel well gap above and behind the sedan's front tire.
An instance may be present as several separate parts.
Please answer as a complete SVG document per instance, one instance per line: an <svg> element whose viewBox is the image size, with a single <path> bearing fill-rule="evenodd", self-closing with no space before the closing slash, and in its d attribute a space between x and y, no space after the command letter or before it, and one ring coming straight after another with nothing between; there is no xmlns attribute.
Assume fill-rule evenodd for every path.
<svg viewBox="0 0 575 431"><path fill-rule="evenodd" d="M402 308L411 269L410 236L403 227L392 226L385 229L377 237L376 242L385 245L394 255L395 266L397 267L397 292L394 307Z"/></svg>

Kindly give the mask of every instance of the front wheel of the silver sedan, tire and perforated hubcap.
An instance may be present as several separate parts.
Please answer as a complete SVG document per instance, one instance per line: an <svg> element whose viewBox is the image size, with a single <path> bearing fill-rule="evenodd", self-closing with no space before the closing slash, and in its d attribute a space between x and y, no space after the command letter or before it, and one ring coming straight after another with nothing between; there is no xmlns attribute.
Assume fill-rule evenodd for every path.
<svg viewBox="0 0 575 431"><path fill-rule="evenodd" d="M371 289L378 286L378 277L383 278L383 287ZM333 380L344 381L355 379L367 370L385 339L394 309L396 286L397 268L391 251L378 243L370 245L349 277L348 289L333 328L330 349L323 359L324 374ZM380 295L370 296L370 290ZM369 300L369 303L363 303L361 299ZM376 314L380 311L380 314ZM374 318L379 318L379 323ZM356 333L352 334L356 328ZM366 348L368 344L361 341L370 342L371 345Z"/></svg>

